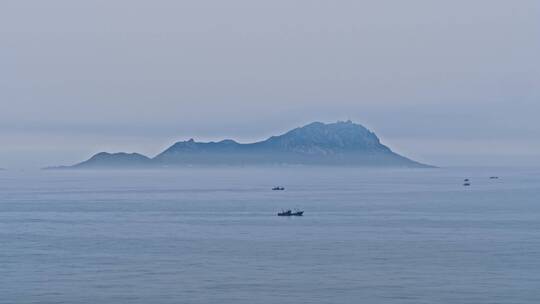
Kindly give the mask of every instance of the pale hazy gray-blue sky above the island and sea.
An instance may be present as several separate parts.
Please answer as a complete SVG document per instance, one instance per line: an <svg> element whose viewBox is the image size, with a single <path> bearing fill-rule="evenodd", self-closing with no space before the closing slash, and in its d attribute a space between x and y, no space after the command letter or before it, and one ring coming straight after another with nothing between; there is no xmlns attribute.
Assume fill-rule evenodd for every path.
<svg viewBox="0 0 540 304"><path fill-rule="evenodd" d="M0 167L352 119L437 165L540 164L538 0L0 0Z"/></svg>

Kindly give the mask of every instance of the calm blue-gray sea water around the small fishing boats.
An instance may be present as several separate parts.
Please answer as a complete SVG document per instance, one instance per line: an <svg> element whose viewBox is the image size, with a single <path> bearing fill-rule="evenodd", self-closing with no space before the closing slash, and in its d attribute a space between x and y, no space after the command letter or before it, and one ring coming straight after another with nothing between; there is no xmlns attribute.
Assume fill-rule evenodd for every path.
<svg viewBox="0 0 540 304"><path fill-rule="evenodd" d="M0 303L536 304L540 170L5 171L0 246Z"/></svg>

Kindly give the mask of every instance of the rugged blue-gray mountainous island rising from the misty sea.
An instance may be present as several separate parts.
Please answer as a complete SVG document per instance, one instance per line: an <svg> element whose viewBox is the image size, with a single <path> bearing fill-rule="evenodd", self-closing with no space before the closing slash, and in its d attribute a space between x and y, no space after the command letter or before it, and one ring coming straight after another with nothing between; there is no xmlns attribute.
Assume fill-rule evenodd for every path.
<svg viewBox="0 0 540 304"><path fill-rule="evenodd" d="M335 165L429 168L381 144L375 133L351 121L314 122L266 140L241 144L177 142L154 158L138 153L100 152L72 166L46 169L167 168L180 166Z"/></svg>

